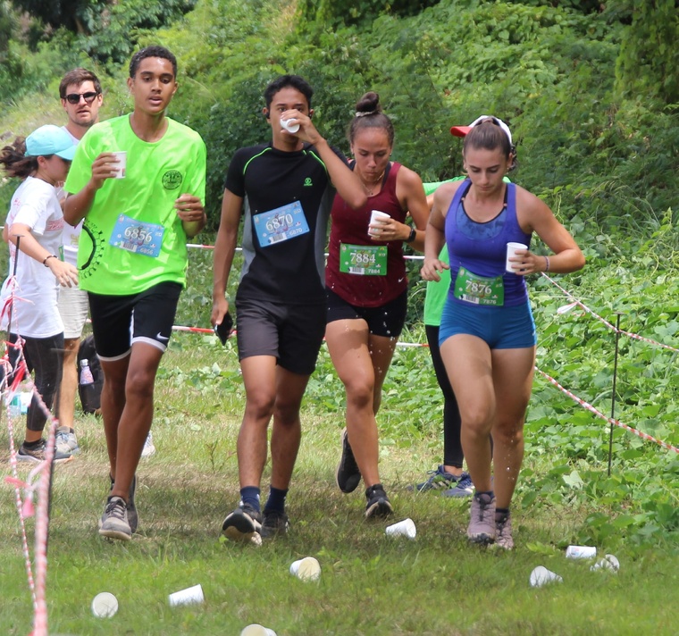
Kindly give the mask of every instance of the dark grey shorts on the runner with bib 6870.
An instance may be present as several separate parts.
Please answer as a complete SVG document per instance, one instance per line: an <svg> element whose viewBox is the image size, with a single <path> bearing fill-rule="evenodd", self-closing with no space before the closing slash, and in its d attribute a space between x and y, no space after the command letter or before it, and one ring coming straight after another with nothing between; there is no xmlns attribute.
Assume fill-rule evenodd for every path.
<svg viewBox="0 0 679 636"><path fill-rule="evenodd" d="M311 375L325 335L325 304L285 305L236 297L239 360L273 356L289 372Z"/></svg>

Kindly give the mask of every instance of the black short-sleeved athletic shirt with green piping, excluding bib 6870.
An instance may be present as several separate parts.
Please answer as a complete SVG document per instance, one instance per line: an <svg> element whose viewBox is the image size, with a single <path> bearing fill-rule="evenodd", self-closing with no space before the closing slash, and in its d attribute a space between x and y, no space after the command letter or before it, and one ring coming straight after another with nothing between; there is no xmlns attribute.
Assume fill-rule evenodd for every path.
<svg viewBox="0 0 679 636"><path fill-rule="evenodd" d="M342 161L347 159L332 148ZM244 199L243 256L238 298L264 298L289 305L324 303L324 249L334 188L314 146L283 152L271 145L240 148L224 188ZM298 201L309 231L261 247L256 214Z"/></svg>

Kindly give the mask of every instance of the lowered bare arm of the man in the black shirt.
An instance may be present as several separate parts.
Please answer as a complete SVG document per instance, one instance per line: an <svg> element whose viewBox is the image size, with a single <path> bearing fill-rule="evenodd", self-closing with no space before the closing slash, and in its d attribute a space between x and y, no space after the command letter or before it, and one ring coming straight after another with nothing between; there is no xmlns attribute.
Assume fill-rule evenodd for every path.
<svg viewBox="0 0 679 636"><path fill-rule="evenodd" d="M221 324L229 310L226 299L226 286L229 282L233 255L239 233L240 213L243 197L237 197L231 190L224 189L222 216L220 217L217 239L214 241L213 255L213 311L210 322Z"/></svg>

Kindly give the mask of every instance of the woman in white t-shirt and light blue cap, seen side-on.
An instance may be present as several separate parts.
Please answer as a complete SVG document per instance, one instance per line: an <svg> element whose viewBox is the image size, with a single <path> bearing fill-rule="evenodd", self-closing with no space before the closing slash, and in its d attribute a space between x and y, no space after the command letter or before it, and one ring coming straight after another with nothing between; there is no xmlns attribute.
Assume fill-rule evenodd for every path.
<svg viewBox="0 0 679 636"><path fill-rule="evenodd" d="M46 125L25 141L18 138L12 146L5 146L0 155L5 172L23 179L13 194L3 230L10 247L9 275L0 294L2 328L9 331L13 369L7 380L11 385L23 352L47 409L52 407L62 372L63 322L57 305L58 289L78 282L78 270L58 256L63 213L55 191L55 185L66 179L74 153L69 134L58 126ZM16 346L20 338L22 347ZM46 409L34 392L17 459L45 459L46 440L42 435L46 421ZM54 461L69 459L70 453L54 452Z"/></svg>

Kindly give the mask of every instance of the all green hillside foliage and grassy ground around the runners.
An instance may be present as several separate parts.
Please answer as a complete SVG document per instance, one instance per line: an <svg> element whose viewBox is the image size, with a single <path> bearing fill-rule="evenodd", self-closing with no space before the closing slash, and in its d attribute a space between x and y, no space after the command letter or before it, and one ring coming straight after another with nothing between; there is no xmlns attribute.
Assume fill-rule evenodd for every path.
<svg viewBox="0 0 679 636"><path fill-rule="evenodd" d="M138 43L159 41L178 55L172 115L200 130L208 145L211 225L196 242L214 242L233 151L268 138L261 94L276 74L298 72L312 82L314 121L345 151L353 105L376 89L395 119L395 158L424 180L459 172L450 125L498 114L517 141L513 179L552 206L587 256L583 272L557 282L609 322L621 313L623 330L677 347L676 13L666 0L652 4L658 13L644 13L650 3L641 0L611 0L603 11L598 2L440 0L391 3L380 12L365 0L347 4L342 15L343 4L323 0L200 0L172 26L139 31ZM132 5L142 3L120 3ZM333 7L332 15L319 13ZM56 29L32 50L18 24L0 2L0 134L62 121L56 87L76 63L102 74L104 116L129 108L125 65L96 63L84 45L73 45L90 36ZM110 29L107 37L118 46L122 35ZM661 46L668 39L673 46ZM644 69L638 81L635 66ZM0 204L15 185L0 187ZM411 264L406 342L424 341L417 269ZM192 250L178 323L208 325L211 275L211 253ZM231 276L231 292L237 278ZM538 367L610 414L615 333L580 308L559 314L571 300L548 280L536 277L530 287ZM619 345L616 418L677 446L676 352L626 335ZM105 442L101 424L81 418L83 452L59 467L54 481L51 632L238 634L255 622L279 636L675 632L679 457L616 429L608 477L608 424L541 375L526 423L511 554L466 546L466 502L407 490L440 462L442 449L440 391L425 348L398 348L378 416L383 481L397 519L415 520L414 542L386 540L383 523L362 521L362 498L334 486L343 393L324 348L304 406L289 538L260 549L222 542L223 516L238 499L243 399L233 341L222 348L212 336L176 335L156 393L158 453L139 468L140 534L127 546L96 535L107 489ZM7 457L0 451L5 474ZM0 631L23 634L32 607L5 490ZM29 522L29 536L31 530ZM615 554L620 573L566 561L570 543ZM318 584L288 573L307 555L321 562ZM533 590L535 565L564 582ZM205 606L167 606L167 594L198 582ZM113 619L89 612L102 590L120 600Z"/></svg>

